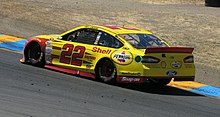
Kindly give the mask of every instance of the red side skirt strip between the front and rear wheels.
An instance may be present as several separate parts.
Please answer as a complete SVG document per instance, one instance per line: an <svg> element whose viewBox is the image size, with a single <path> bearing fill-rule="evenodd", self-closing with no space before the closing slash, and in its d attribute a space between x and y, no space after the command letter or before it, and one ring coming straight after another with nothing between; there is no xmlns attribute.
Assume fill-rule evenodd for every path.
<svg viewBox="0 0 220 117"><path fill-rule="evenodd" d="M88 72L82 72L82 71L79 71L79 70L60 68L60 67L53 66L53 65L45 65L45 68L53 69L53 70L68 73L68 74L85 76L85 77L89 77L89 78L93 78L93 79L96 78L95 74L88 73Z"/></svg>

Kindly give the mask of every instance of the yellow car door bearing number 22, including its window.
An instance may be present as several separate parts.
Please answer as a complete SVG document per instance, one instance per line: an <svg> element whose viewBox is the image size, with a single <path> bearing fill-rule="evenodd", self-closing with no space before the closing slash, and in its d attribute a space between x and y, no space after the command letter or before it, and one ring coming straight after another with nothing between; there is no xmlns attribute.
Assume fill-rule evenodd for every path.
<svg viewBox="0 0 220 117"><path fill-rule="evenodd" d="M51 64L85 70L89 63L84 61L84 57L91 54L97 34L98 32L92 29L79 29L64 35L62 40L51 41L47 44L52 48Z"/></svg>

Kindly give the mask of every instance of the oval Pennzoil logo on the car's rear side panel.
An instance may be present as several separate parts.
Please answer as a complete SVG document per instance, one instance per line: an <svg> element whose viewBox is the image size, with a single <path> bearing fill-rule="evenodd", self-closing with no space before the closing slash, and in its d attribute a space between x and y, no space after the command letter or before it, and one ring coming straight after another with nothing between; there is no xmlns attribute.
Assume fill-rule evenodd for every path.
<svg viewBox="0 0 220 117"><path fill-rule="evenodd" d="M133 56L127 51L115 51L112 53L111 58L114 62L122 65L130 64L133 60Z"/></svg>

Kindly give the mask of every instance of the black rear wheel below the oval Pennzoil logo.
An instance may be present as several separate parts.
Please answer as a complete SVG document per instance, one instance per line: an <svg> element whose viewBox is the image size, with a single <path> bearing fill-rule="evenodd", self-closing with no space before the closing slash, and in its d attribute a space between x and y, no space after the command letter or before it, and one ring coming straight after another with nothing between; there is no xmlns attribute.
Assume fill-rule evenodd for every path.
<svg viewBox="0 0 220 117"><path fill-rule="evenodd" d="M114 63L109 59L103 59L98 62L96 76L101 82L110 84L115 83L117 72Z"/></svg>

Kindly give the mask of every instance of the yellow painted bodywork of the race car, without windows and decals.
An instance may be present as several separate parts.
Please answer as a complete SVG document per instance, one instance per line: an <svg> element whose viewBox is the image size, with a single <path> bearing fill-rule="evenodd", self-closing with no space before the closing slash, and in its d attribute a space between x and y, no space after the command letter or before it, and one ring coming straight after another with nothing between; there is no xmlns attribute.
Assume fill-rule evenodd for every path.
<svg viewBox="0 0 220 117"><path fill-rule="evenodd" d="M128 41L126 41L126 39L119 36L119 34L152 34L148 30L135 28L135 27L85 25L85 26L79 26L79 27L76 27L72 30L64 32L60 36L63 37L66 34L70 34L74 31L84 29L84 28L91 28L94 30L101 30L102 32L106 32L109 35L111 35L112 37L115 37L119 41L121 41L123 43L123 47L109 48L109 47L97 46L97 45L91 45L91 44L67 42L67 41L63 41L63 40L58 39L59 35L39 35L39 36L35 36L35 38L36 39L43 38L43 39L48 39L48 40L53 38L54 41L51 40L51 46L55 46L58 48L63 48L63 46L65 44L71 44L71 45L74 45L74 47L76 47L76 46L86 47L85 52L91 54L91 56L93 56L93 57L96 57L95 60L91 61L93 66L90 67L89 70L86 67L86 65L87 65L86 63L83 63L80 66L73 66L73 65L71 65L72 63L70 61L68 61L68 64L61 63L60 58L56 58L56 59L52 60L53 64L59 64L60 66L64 66L64 67L70 68L70 69L72 67L74 67L73 69L87 70L87 72L95 73L94 69L95 69L95 66L98 63L98 61L102 58L110 58L111 60L115 61L115 67L117 68L117 73L118 73L117 75L119 75L119 76L124 76L124 74L122 74L122 73L131 73L131 72L134 73L135 72L135 73L139 73L140 76L142 76L142 77L145 77L145 76L155 77L155 78L167 77L167 75L166 75L167 72L174 69L174 68L172 68L172 66L170 64L173 62L172 57L175 57L175 61L181 61L182 66L183 66L179 69L174 69L178 73L176 76L182 76L182 77L195 76L194 63L187 63L187 64L191 64L191 66L193 66L193 67L186 68L184 66L185 63L183 62L184 58L186 58L187 56L192 56L191 53L164 53L164 54L166 54L167 58L162 57L161 53L147 53L147 54L145 54L145 49L136 49ZM61 56L61 52L68 51L67 49L53 50L52 54L57 55L57 56ZM109 53L106 53L108 50L111 50L111 51L109 51ZM115 53L116 50L118 50L119 52L131 53L131 54L126 54L127 59L123 59L123 58L119 58L119 57L114 58L114 57L116 57L117 54L121 54L121 53ZM73 51L73 53L75 53L75 51ZM125 56L125 54L123 54L122 56ZM156 58L160 59L161 61L166 62L167 67L162 68L161 62L151 63L150 65L137 63L135 61L135 57L137 57L137 56L156 57ZM65 57L71 58L72 56L65 56ZM121 60L121 59L123 59L123 60ZM122 65L122 63L126 64L126 65ZM150 67L150 66L158 66L158 67ZM127 76L128 75L134 76L134 77L136 76L135 74L127 74Z"/></svg>

